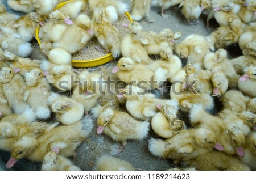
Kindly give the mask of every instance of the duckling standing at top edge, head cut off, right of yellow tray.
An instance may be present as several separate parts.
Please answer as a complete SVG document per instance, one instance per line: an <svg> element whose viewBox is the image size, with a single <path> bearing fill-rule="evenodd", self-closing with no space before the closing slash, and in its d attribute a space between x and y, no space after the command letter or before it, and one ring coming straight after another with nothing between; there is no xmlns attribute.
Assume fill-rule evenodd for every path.
<svg viewBox="0 0 256 182"><path fill-rule="evenodd" d="M153 23L155 20L150 19L150 4L152 0L132 0L131 1L131 18L140 21L143 17L147 23Z"/></svg>

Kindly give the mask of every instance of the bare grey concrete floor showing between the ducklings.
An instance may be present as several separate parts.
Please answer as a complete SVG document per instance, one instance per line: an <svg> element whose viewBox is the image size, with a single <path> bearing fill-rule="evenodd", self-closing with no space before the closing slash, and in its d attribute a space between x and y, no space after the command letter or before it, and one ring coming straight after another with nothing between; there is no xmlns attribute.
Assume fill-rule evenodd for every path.
<svg viewBox="0 0 256 182"><path fill-rule="evenodd" d="M3 1L2 1L3 2ZM6 1L5 1L6 2ZM130 0L126 0L129 2ZM160 15L160 7L152 7L151 9L151 18L155 19L155 23L148 24L146 20L141 21L141 25L144 31L162 31L164 28L169 28L172 31L182 32L181 39L177 41L184 40L185 37L192 33L197 33L203 36L209 35L209 31L206 28L206 16L202 15L199 19L199 23L196 26L188 26L184 20L183 15L180 12L180 9L173 7L166 11L167 15L170 15L170 18L163 19ZM216 23L214 20L210 21L210 28L216 28ZM39 49L36 43L35 52L32 54L32 57L39 57ZM109 74L111 73L112 68L116 65L117 61L112 61L108 64L102 65L97 69L107 69ZM185 60L184 60L185 64ZM167 96L168 98L168 96ZM183 116L183 120L187 122L187 117ZM94 129L89 138L87 138L82 145L77 149L77 160L76 165L81 168L81 170L93 170L94 164L97 158L101 154L108 154L110 152L110 146L115 142L112 141L107 136L98 135L96 133L96 121L94 121ZM148 139L150 137L157 137L152 130L146 139L143 141L128 141L127 147L122 153L116 155L117 157L129 161L135 168L141 168L143 170L167 170L171 161L155 158L148 151ZM10 153L5 151L0 151L0 170L6 170L5 163L10 158ZM40 163L28 162L27 160L20 160L11 170L40 170Z"/></svg>

